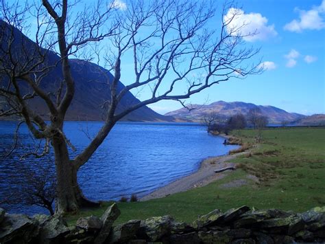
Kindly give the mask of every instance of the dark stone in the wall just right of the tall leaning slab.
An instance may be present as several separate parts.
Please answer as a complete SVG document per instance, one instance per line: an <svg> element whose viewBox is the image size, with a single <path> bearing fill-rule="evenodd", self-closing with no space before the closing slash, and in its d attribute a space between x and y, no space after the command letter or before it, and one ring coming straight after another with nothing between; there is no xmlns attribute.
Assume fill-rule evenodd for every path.
<svg viewBox="0 0 325 244"><path fill-rule="evenodd" d="M131 220L127 223L117 225L110 234L109 243L123 243L136 236L141 221Z"/></svg>

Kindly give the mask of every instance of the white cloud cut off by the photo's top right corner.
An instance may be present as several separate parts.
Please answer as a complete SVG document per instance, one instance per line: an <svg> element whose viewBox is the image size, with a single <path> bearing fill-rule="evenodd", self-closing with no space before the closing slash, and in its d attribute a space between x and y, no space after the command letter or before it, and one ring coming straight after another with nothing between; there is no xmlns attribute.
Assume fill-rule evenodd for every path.
<svg viewBox="0 0 325 244"><path fill-rule="evenodd" d="M293 19L284 27L290 32L302 32L302 30L322 30L325 28L325 0L321 5L314 6L311 10L295 9L299 13L299 19Z"/></svg>

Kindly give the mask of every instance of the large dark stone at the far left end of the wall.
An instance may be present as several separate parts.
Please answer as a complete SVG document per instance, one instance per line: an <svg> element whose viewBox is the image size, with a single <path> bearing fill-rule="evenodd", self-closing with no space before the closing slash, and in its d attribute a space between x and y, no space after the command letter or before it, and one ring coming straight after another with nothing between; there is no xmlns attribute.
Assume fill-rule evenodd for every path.
<svg viewBox="0 0 325 244"><path fill-rule="evenodd" d="M30 243L38 234L36 222L25 214L5 214L0 243Z"/></svg>

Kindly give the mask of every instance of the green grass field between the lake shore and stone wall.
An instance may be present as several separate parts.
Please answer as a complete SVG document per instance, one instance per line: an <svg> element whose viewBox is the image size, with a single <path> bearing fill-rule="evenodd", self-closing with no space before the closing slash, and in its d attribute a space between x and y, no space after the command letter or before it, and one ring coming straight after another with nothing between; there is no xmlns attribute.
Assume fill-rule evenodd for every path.
<svg viewBox="0 0 325 244"><path fill-rule="evenodd" d="M252 144L256 131L243 130L235 135ZM165 214L178 221L191 222L215 208L228 210L242 205L295 212L325 206L325 128L265 129L263 141L251 153L232 162L238 163L239 169L208 186L162 199L118 203L121 216L116 223ZM259 181L253 181L248 175L255 175ZM239 179L245 179L247 184L221 187ZM72 223L80 216L100 216L109 204L82 210L67 220Z"/></svg>

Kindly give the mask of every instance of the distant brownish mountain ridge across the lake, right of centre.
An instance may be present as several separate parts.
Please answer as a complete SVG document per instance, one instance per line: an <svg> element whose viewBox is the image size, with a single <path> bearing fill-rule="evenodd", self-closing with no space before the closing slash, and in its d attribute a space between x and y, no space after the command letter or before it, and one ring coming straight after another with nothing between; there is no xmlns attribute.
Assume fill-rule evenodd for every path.
<svg viewBox="0 0 325 244"><path fill-rule="evenodd" d="M294 121L304 117L304 115L288 113L277 107L261 106L246 102L219 101L208 105L193 104L192 107L196 109L189 111L189 109L182 108L166 113L165 115L199 122L202 120L205 113L213 112L217 113L221 118L229 118L236 113L243 113L243 115L246 115L250 109L258 107L261 109L263 115L267 116L270 124L279 124L282 121Z"/></svg>

